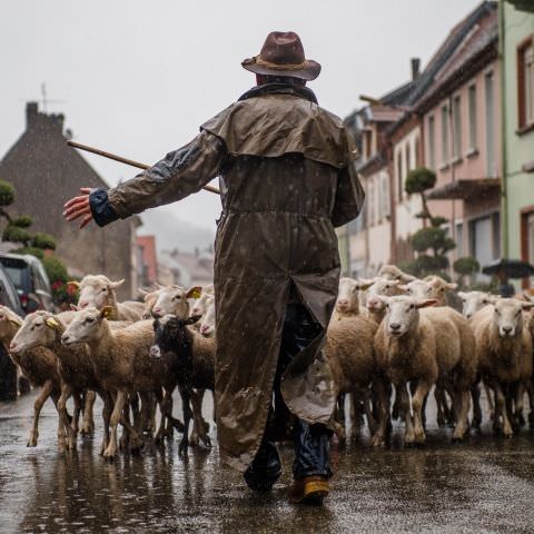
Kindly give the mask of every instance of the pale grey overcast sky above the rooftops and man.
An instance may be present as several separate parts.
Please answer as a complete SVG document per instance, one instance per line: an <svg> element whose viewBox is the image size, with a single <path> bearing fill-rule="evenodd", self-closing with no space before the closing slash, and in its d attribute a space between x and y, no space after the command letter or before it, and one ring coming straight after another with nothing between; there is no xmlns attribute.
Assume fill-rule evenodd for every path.
<svg viewBox="0 0 534 534"><path fill-rule="evenodd" d="M2 0L0 157L24 127L24 101L62 111L76 140L154 162L254 85L240 67L271 30L294 30L323 65L310 83L339 116L360 93L379 96L429 59L474 0ZM110 184L135 169L88 156ZM9 177L4 177L9 178ZM83 184L80 184L82 186ZM66 198L76 191L65 191ZM215 229L220 204L200 192L172 206Z"/></svg>

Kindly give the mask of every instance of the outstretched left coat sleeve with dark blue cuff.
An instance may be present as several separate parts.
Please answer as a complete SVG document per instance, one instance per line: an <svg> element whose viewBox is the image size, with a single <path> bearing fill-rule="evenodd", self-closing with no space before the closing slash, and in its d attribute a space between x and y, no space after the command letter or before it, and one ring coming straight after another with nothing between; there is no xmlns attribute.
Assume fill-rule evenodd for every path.
<svg viewBox="0 0 534 534"><path fill-rule="evenodd" d="M105 226L145 209L181 200L215 178L227 158L225 144L202 130L191 142L169 152L135 178L108 191L92 190L89 204L95 221Z"/></svg>

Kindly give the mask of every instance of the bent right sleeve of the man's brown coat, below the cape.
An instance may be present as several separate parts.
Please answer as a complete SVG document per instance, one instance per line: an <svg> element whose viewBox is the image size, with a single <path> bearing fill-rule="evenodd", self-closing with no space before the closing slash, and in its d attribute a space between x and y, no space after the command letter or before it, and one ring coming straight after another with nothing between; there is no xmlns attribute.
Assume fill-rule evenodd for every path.
<svg viewBox="0 0 534 534"><path fill-rule="evenodd" d="M365 191L359 181L354 165L354 148L348 142L348 165L339 170L337 178L336 197L332 212L332 224L337 228L355 219L364 206Z"/></svg>

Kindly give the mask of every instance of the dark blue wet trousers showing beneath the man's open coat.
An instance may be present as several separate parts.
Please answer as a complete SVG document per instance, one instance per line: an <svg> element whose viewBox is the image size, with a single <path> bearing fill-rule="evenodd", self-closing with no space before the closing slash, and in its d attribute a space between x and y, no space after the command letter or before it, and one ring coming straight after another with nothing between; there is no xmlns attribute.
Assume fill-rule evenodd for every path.
<svg viewBox="0 0 534 534"><path fill-rule="evenodd" d="M281 474L281 463L273 436L283 434L280 428L289 417L289 411L280 393L280 379L291 359L300 353L320 333L301 304L288 304L281 333L280 355L274 382L274 406L270 409L267 428L258 453L245 472L247 484L254 490L269 490ZM332 476L329 466L329 442L332 431L325 425L308 423L293 417L293 437L295 443L295 479L305 476ZM256 487L255 487L256 486Z"/></svg>

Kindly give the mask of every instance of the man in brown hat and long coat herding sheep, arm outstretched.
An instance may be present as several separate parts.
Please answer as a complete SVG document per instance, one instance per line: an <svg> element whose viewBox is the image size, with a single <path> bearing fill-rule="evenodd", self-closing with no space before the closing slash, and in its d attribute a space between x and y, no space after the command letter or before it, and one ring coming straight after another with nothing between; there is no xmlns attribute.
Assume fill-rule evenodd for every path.
<svg viewBox="0 0 534 534"><path fill-rule="evenodd" d="M253 491L281 474L275 443L295 443L294 503L329 493L332 373L322 352L338 290L335 227L356 218L364 191L342 119L306 82L320 65L294 32L271 32L243 61L256 87L195 139L135 178L82 188L67 220L105 226L180 200L219 177L216 414L220 456Z"/></svg>

